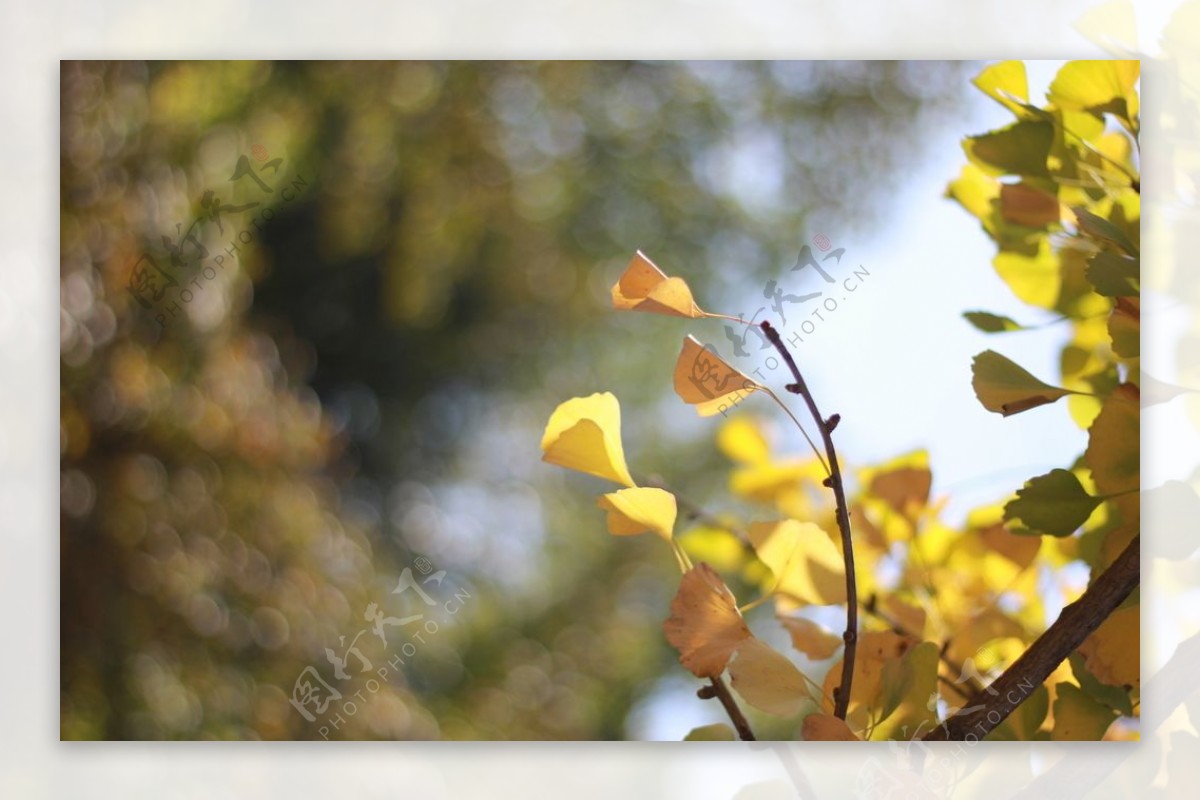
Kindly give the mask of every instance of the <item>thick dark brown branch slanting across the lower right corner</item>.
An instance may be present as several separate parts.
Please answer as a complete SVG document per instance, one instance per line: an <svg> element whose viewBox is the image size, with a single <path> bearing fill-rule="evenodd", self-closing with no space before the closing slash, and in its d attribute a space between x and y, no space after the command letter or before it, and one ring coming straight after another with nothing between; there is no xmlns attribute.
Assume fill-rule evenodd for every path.
<svg viewBox="0 0 1200 801"><path fill-rule="evenodd" d="M996 681L955 715L930 731L925 740L983 739L1013 713L1072 652L1099 628L1138 586L1141 573L1141 537L1134 537L1117 560L1087 591L1068 604L1045 631ZM1134 648L1136 644L1133 645Z"/></svg>

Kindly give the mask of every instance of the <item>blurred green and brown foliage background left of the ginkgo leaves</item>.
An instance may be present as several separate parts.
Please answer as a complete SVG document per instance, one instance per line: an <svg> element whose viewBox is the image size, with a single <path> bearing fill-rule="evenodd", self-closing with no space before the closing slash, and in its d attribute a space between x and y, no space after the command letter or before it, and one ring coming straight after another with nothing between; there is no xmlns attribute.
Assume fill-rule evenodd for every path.
<svg viewBox="0 0 1200 801"><path fill-rule="evenodd" d="M378 691L340 685L365 700L326 736L638 736L679 680L674 567L605 534L541 428L611 390L630 464L722 476L677 326L608 287L641 248L743 297L822 224L868 231L974 68L62 62L62 737L323 736L298 675L400 614L419 556L470 600ZM241 157L272 213L218 227L206 191L265 197ZM166 248L197 218L240 246L212 278ZM180 284L149 307L143 254Z"/></svg>

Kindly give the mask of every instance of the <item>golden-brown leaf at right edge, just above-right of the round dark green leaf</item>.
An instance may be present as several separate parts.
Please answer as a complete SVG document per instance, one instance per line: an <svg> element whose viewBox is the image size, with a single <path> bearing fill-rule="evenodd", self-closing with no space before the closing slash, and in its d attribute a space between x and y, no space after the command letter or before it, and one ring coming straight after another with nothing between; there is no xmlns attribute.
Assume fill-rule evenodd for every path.
<svg viewBox="0 0 1200 801"><path fill-rule="evenodd" d="M1140 486L1140 393L1133 384L1122 384L1092 422L1084 451L1092 481L1105 495L1134 492Z"/></svg>

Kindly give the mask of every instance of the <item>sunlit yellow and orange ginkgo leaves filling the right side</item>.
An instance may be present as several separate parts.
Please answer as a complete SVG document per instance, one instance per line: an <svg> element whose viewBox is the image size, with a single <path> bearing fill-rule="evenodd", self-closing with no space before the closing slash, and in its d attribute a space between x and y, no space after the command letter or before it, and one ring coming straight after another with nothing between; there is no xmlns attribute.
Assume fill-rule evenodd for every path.
<svg viewBox="0 0 1200 801"><path fill-rule="evenodd" d="M1075 567L1086 566L1094 579L1136 536L1136 64L1070 62L1038 106L1019 62L994 65L976 79L1015 119L966 139L967 165L948 195L995 240L994 266L1032 307L1030 319L1070 335L1052 384L1002 355L1002 347L979 354L976 395L986 410L1004 416L1068 403L1075 423L1088 432L1088 446L1073 464L1031 478L964 523L947 519L946 499L931 494L924 451L859 468L850 495L858 598L846 596L821 451L778 453L773 423L763 416L769 406L738 405L733 412L734 401L766 395L799 426L788 404L694 337L684 339L670 380L700 415L722 417L713 435L728 459L732 498L697 504L655 488L653 496L618 502L623 493L648 490L628 478L617 458L623 451L616 398L575 398L552 415L542 441L546 460L628 487L601 498L610 531L659 534L683 574L664 625L667 642L697 677L727 676L754 710L760 734L922 736L1030 648L1055 614L1048 596L1070 602L1081 595ZM668 277L642 253L613 285L612 302L616 309L695 325L731 317L702 311L684 278ZM997 336L1034 327L985 311L965 317ZM564 420L576 421L574 428L564 432ZM720 511L731 500L754 513ZM863 620L842 721L833 712L847 603L858 604ZM988 736L1136 736L1138 637L1134 597ZM731 736L728 727L714 723L686 739Z"/></svg>

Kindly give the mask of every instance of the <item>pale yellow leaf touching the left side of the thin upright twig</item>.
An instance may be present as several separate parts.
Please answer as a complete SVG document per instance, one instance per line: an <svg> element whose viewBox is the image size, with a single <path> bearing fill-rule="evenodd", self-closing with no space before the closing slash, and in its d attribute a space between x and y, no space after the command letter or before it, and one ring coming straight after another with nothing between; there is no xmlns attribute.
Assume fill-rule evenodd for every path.
<svg viewBox="0 0 1200 801"><path fill-rule="evenodd" d="M846 567L821 526L799 520L752 523L749 535L780 596L818 606L846 602Z"/></svg>

